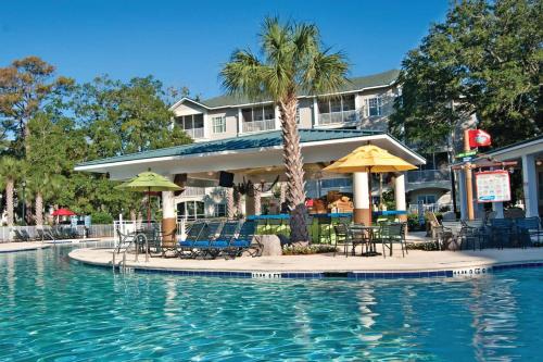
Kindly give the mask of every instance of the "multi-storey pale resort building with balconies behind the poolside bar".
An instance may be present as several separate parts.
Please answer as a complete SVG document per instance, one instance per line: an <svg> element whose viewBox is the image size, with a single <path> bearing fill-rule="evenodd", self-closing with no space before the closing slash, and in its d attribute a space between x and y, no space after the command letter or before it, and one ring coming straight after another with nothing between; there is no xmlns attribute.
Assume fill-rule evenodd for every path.
<svg viewBox="0 0 543 362"><path fill-rule="evenodd" d="M300 129L358 129L387 133L393 103L401 95L399 71L392 70L370 76L354 77L341 91L333 95L301 96L298 123ZM194 139L209 142L280 129L279 111L269 100L222 96L206 100L182 98L172 107L176 124ZM451 176L446 150L426 155L427 164L406 175L407 202L417 210L449 208ZM390 177L389 177L390 178ZM390 189L390 179L382 180ZM377 197L379 182L372 195ZM202 187L203 186L203 187ZM178 215L187 219L224 216L224 190L215 185L189 186L178 201ZM353 192L351 177L324 176L316 173L307 179L307 196L317 198L328 191ZM277 190L276 190L277 191ZM268 198L273 191L263 195Z"/></svg>

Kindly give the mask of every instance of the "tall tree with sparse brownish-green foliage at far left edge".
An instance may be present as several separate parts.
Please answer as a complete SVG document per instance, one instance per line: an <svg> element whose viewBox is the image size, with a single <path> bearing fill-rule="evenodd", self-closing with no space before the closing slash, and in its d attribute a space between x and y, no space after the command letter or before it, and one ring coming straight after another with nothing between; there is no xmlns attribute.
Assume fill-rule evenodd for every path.
<svg viewBox="0 0 543 362"><path fill-rule="evenodd" d="M0 68L0 140L11 135L12 151L24 155L29 120L72 85L70 78L55 77L54 66L38 57L15 60Z"/></svg>

